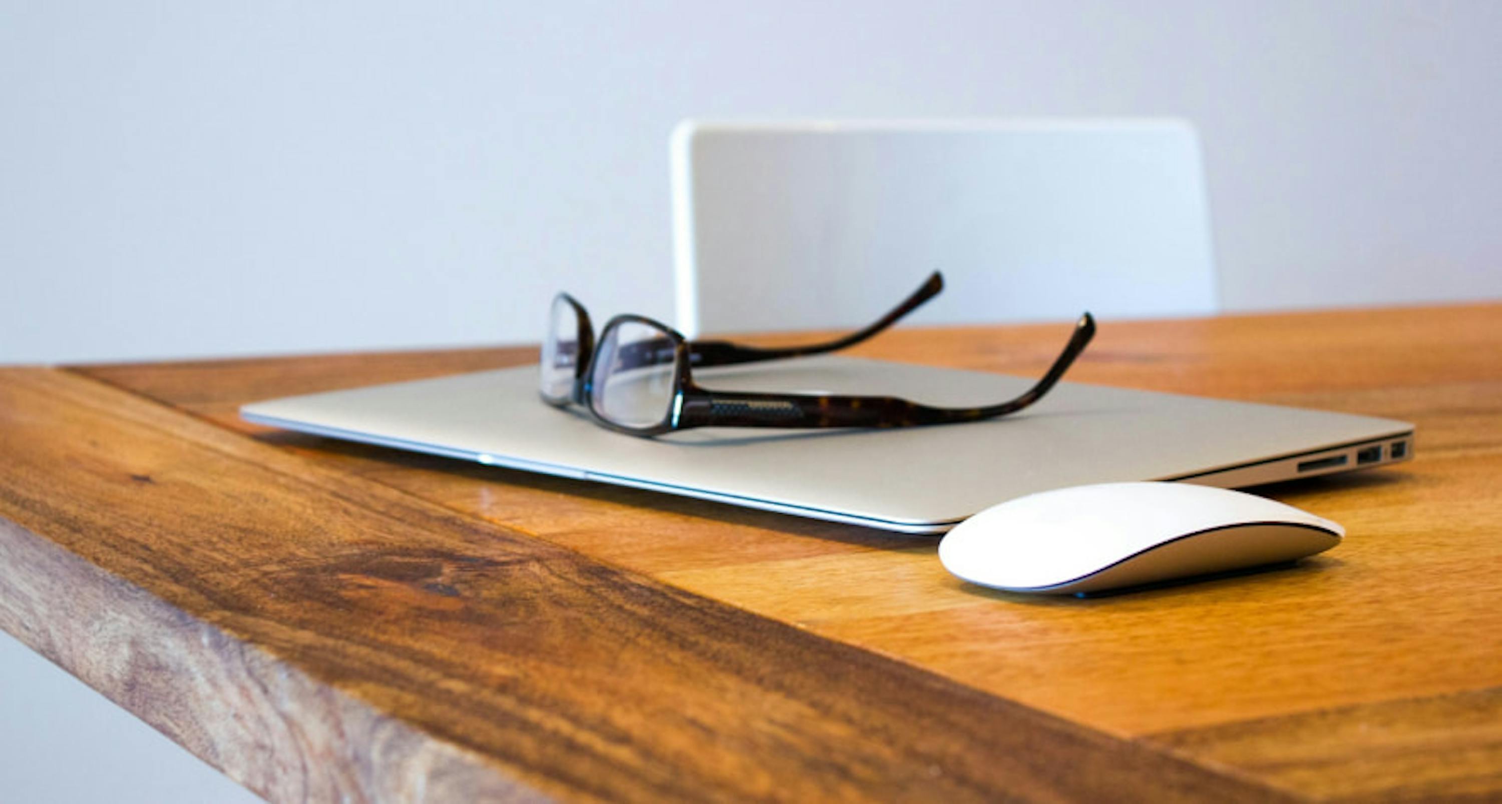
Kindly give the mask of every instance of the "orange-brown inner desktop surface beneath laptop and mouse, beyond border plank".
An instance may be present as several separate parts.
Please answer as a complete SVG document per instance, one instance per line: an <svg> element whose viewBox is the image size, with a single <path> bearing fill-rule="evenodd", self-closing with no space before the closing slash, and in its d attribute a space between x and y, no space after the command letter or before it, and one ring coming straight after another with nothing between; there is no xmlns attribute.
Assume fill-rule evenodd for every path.
<svg viewBox="0 0 1502 804"><path fill-rule="evenodd" d="M898 330L859 352L1035 374L1065 328ZM1502 688L1502 304L1102 322L1071 380L1406 418L1419 450L1392 470L1262 489L1347 525L1347 542L1317 561L1084 602L963 586L925 538L272 434L234 417L240 402L406 378L425 360L81 372L330 472L1290 794L1502 796L1493 732L1443 735L1440 720L1421 717L1436 711L1427 702L1479 694L1464 700L1482 706ZM1373 711L1394 712L1371 747L1412 768L1401 783L1346 778L1359 772L1359 728L1340 732L1355 735L1343 738L1344 760L1310 728L1331 723L1325 712L1361 723ZM1260 747L1247 747L1248 734ZM1457 771L1436 744L1470 764Z"/></svg>

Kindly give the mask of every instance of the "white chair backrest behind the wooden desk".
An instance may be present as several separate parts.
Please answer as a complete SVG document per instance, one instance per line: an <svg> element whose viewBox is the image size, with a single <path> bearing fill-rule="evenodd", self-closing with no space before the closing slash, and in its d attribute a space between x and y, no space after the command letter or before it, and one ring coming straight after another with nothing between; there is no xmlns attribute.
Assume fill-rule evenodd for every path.
<svg viewBox="0 0 1502 804"><path fill-rule="evenodd" d="M677 326L852 327L1217 310L1181 120L704 123L673 132Z"/></svg>

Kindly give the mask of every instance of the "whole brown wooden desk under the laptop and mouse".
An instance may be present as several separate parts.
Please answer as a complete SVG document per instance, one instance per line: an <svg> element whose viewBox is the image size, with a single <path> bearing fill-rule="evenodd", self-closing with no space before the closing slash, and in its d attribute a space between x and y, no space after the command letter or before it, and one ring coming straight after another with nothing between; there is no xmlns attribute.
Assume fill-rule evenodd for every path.
<svg viewBox="0 0 1502 804"><path fill-rule="evenodd" d="M859 352L1032 375L1060 336ZM1104 322L1072 380L1406 418L1418 450L1266 489L1349 528L1326 556L1096 600L234 414L532 358L0 372L0 627L278 801L1502 796L1502 304Z"/></svg>

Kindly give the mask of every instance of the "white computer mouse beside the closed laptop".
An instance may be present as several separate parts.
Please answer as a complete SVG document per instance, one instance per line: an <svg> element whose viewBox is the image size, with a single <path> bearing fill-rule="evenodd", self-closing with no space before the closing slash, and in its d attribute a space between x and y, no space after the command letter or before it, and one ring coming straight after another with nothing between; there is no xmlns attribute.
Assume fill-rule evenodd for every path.
<svg viewBox="0 0 1502 804"><path fill-rule="evenodd" d="M1190 483L1075 486L993 506L939 542L982 586L1086 594L1295 561L1346 530L1262 496Z"/></svg>

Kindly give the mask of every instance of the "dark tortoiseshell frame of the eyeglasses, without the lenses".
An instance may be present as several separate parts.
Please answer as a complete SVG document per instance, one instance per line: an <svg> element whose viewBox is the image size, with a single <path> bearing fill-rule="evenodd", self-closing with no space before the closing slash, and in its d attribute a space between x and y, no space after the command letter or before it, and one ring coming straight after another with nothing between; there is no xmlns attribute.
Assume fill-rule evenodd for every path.
<svg viewBox="0 0 1502 804"><path fill-rule="evenodd" d="M943 408L922 405L895 396L840 396L796 393L749 393L716 392L694 382L694 368L728 366L759 360L778 360L844 350L886 330L924 302L943 290L943 276L934 272L906 302L894 308L874 324L823 344L802 346L746 346L728 340L688 340L682 333L643 315L617 315L601 330L604 342L614 327L628 322L643 324L662 333L661 339L638 340L619 350L617 358L629 364L665 364L662 350L673 350L671 405L661 422L649 426L625 426L595 410L589 378L593 376L599 350L595 348L595 332L584 306L568 294L559 294L575 312L578 320L577 354L589 360L575 362L575 378L566 398L542 393L544 402L554 406L581 405L598 424L616 432L638 436L662 435L689 428L910 428L918 424L952 424L979 422L1017 412L1042 399L1059 382L1074 360L1095 336L1095 318L1083 314L1074 326L1063 351L1054 358L1047 374L1030 388L1014 399L976 408ZM550 333L551 336L551 333ZM631 352L637 352L632 360Z"/></svg>

